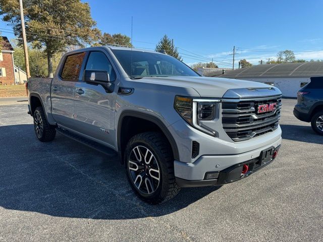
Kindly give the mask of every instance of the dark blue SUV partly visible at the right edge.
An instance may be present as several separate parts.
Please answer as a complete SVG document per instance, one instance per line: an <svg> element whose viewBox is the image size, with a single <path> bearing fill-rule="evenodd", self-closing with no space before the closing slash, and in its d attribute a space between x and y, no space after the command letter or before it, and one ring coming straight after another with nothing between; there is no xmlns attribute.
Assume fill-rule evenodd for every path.
<svg viewBox="0 0 323 242"><path fill-rule="evenodd" d="M311 77L311 81L297 93L294 115L310 122L312 129L323 135L323 77Z"/></svg>

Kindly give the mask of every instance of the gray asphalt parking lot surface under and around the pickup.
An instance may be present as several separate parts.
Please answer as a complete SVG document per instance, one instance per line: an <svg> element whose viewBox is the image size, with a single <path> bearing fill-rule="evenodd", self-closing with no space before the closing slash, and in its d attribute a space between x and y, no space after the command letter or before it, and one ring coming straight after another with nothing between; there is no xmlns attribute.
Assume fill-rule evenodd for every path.
<svg viewBox="0 0 323 242"><path fill-rule="evenodd" d="M36 140L27 106L0 106L0 241L323 241L323 137L283 99L282 148L220 189L148 205L123 167L57 135Z"/></svg>

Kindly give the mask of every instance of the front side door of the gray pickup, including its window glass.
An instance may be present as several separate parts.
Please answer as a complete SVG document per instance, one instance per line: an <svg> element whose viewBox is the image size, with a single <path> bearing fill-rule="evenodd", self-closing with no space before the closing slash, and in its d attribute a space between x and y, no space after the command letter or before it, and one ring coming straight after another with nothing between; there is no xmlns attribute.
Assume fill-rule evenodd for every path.
<svg viewBox="0 0 323 242"><path fill-rule="evenodd" d="M112 82L116 79L109 59L101 51L89 53L85 70L107 71ZM83 81L76 83L75 90L74 118L78 126L77 131L114 147L116 91L107 93L101 85Z"/></svg>

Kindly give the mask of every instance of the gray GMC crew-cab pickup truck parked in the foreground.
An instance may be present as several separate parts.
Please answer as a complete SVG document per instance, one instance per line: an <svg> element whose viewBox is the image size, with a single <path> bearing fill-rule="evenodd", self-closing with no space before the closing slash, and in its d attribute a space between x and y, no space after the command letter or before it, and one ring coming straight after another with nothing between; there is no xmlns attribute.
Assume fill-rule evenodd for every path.
<svg viewBox="0 0 323 242"><path fill-rule="evenodd" d="M52 79L27 83L36 137L56 132L118 154L133 191L162 203L183 187L220 186L272 162L280 90L201 77L165 53L91 47L66 53Z"/></svg>

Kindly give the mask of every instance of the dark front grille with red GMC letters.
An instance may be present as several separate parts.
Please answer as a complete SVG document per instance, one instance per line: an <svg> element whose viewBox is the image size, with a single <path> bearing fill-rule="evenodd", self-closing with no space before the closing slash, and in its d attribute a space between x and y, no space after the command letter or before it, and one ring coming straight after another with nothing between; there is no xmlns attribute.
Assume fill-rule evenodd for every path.
<svg viewBox="0 0 323 242"><path fill-rule="evenodd" d="M258 98L252 101L224 100L222 103L223 128L234 141L249 140L276 130L279 125L281 108L281 96Z"/></svg>

